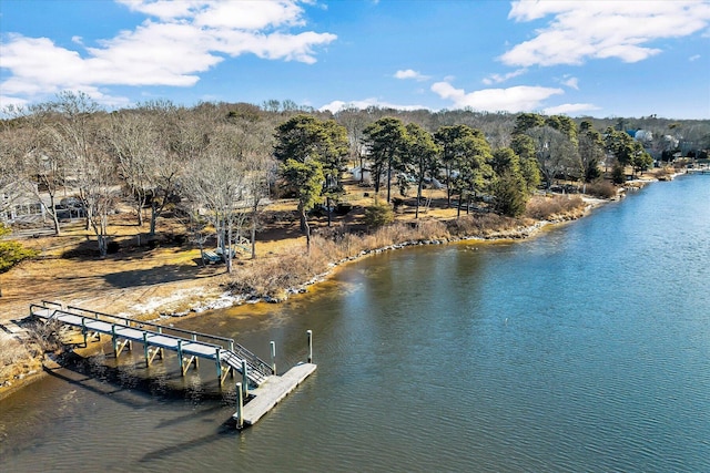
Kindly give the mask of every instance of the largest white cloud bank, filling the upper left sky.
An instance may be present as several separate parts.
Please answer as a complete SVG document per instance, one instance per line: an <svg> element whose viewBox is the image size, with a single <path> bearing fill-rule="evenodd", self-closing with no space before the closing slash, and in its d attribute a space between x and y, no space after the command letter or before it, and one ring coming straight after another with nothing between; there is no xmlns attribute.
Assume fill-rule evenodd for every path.
<svg viewBox="0 0 710 473"><path fill-rule="evenodd" d="M225 55L252 53L262 59L314 63L315 48L336 39L335 34L314 31L291 33L288 28L304 23L297 0L119 1L158 20L145 20L82 52L48 38L8 34L1 44L1 66L9 71L0 83L3 93L26 100L65 89L191 86L200 73L224 61ZM73 40L81 43L80 37Z"/></svg>

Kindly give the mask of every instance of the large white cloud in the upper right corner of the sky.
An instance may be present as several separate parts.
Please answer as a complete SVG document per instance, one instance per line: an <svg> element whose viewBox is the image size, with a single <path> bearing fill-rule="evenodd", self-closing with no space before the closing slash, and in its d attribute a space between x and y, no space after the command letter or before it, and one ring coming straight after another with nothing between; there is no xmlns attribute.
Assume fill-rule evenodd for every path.
<svg viewBox="0 0 710 473"><path fill-rule="evenodd" d="M708 28L710 3L699 1L516 1L509 19L517 22L551 16L546 28L499 59L507 65L581 64L587 59L642 61L661 52L647 45Z"/></svg>

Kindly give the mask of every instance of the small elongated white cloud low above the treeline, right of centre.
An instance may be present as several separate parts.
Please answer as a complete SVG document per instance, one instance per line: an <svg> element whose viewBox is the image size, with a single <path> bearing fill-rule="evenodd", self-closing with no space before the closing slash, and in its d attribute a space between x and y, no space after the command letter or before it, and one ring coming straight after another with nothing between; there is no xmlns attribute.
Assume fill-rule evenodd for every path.
<svg viewBox="0 0 710 473"><path fill-rule="evenodd" d="M540 107L542 101L552 95L564 94L561 89L518 85L508 89L484 89L466 93L448 82L432 85L432 92L444 100L450 100L456 109L471 107L488 112L529 112Z"/></svg>

